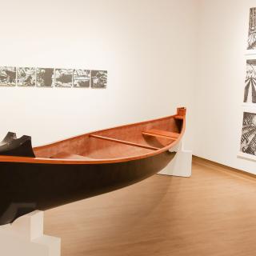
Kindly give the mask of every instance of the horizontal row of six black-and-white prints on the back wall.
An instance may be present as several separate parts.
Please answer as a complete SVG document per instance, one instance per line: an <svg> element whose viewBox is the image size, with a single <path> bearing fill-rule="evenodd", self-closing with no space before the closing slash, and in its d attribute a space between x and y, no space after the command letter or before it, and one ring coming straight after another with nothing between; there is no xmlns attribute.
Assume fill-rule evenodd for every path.
<svg viewBox="0 0 256 256"><path fill-rule="evenodd" d="M106 85L106 70L0 66L0 86L104 89Z"/></svg>

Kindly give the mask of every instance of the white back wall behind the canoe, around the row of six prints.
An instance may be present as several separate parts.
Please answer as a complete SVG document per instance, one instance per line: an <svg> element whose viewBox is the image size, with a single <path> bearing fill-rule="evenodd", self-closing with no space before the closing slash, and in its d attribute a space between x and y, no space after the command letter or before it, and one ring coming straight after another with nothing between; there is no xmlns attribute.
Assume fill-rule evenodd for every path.
<svg viewBox="0 0 256 256"><path fill-rule="evenodd" d="M2 1L0 66L108 71L106 90L0 88L0 137L33 145L174 114L192 147L196 0Z"/></svg>

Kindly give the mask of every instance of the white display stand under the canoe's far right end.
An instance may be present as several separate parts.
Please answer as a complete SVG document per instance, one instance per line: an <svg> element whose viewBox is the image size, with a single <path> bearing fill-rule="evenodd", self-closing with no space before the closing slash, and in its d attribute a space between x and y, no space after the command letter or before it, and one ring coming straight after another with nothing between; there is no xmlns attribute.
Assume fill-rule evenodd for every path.
<svg viewBox="0 0 256 256"><path fill-rule="evenodd" d="M190 177L192 173L192 151L183 150L182 142L179 142L171 152L177 152L174 159L158 174Z"/></svg>

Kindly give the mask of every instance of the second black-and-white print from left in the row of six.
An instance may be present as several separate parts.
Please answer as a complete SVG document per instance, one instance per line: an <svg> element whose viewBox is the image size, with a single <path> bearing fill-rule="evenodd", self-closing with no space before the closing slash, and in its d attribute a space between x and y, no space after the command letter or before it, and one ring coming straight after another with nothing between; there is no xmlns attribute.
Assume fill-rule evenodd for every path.
<svg viewBox="0 0 256 256"><path fill-rule="evenodd" d="M35 68L18 67L17 69L18 86L35 86Z"/></svg>

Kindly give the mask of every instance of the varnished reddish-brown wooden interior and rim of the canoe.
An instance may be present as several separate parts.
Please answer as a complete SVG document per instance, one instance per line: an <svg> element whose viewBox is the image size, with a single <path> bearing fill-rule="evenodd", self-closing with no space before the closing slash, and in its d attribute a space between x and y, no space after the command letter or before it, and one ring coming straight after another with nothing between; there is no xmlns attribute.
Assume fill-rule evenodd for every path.
<svg viewBox="0 0 256 256"><path fill-rule="evenodd" d="M177 119L182 116L182 120ZM177 139L148 138L142 134L145 130L157 129L178 133ZM114 162L128 162L142 158L153 157L173 148L182 138L186 129L186 108L178 108L177 114L166 118L158 118L146 122L138 122L118 126L106 130L98 130L64 139L45 146L34 147L36 158L24 158L0 155L0 162L26 162L46 164L86 165ZM111 138L106 140L94 138L91 135ZM115 140L115 142L114 142ZM126 143L116 143L116 142ZM135 147L140 145L140 147ZM143 147L142 147L143 146ZM154 149L155 148L155 149ZM154 149L154 150L152 150ZM53 158L59 153L84 156L84 158ZM90 160L92 159L92 160Z"/></svg>

